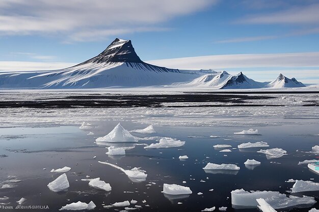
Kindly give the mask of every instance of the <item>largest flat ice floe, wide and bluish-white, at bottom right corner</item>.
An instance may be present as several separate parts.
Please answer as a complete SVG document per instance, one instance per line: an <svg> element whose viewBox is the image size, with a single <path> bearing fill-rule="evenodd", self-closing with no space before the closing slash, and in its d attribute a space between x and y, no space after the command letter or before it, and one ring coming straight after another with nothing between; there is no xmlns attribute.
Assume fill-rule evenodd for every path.
<svg viewBox="0 0 319 212"><path fill-rule="evenodd" d="M233 208L249 208L249 207L257 207L258 202L256 199L263 198L268 204L270 204L273 208L286 208L293 206L301 206L307 205L309 207L310 204L316 203L314 197L296 197L289 196L286 194L280 194L277 191L245 191L244 189L237 189L231 191L231 204Z"/></svg>

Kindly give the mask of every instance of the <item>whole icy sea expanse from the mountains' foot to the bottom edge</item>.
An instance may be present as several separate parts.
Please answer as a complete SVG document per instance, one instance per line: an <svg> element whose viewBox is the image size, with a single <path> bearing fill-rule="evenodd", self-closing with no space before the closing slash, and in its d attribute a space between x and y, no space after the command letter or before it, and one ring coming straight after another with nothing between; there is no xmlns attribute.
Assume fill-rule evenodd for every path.
<svg viewBox="0 0 319 212"><path fill-rule="evenodd" d="M258 211L257 201L247 201L245 195L232 199L236 198L232 191L243 189L284 194L276 195L278 201L270 201L269 195L258 196L264 193L253 194L268 200L277 211L318 209L319 191L289 192L295 180L313 182L307 188L317 188L315 183L319 183L318 173L309 170L307 163L299 164L319 157L312 150L319 145L318 96L4 90L0 93L0 205L15 207L23 197L22 205L48 205L44 211L62 207ZM124 139L134 136L137 142L96 141L119 123L123 129L118 127L110 136L119 138L123 133ZM143 131L150 125L152 131ZM258 133L234 134L250 129ZM245 144L238 148L248 142L260 142L257 144L263 147ZM276 150L260 151L267 149ZM111 154L105 154L109 151ZM235 168L203 169L208 163ZM58 186L63 191L51 191L47 185L64 174L69 187L63 177L63 185ZM164 184L181 187L163 193ZM189 190L184 187L192 192L185 192ZM303 195L308 197L296 199ZM300 204L302 201L311 203ZM294 202L298 206L290 206ZM279 208L285 203L290 207Z"/></svg>

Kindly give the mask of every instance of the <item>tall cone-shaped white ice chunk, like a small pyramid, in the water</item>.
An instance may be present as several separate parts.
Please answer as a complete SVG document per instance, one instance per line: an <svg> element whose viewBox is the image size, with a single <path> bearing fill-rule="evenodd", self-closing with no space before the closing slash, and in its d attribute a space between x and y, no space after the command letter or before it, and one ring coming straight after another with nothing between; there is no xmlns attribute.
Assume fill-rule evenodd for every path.
<svg viewBox="0 0 319 212"><path fill-rule="evenodd" d="M138 142L138 140L138 137L132 136L119 123L108 135L98 137L95 141L99 144L99 142Z"/></svg>

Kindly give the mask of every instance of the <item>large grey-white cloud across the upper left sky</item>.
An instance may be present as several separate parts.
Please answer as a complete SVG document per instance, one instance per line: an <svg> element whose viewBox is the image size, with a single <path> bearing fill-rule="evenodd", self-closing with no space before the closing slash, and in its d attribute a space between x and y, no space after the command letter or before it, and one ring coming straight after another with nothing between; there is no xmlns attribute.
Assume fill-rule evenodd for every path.
<svg viewBox="0 0 319 212"><path fill-rule="evenodd" d="M60 35L69 39L158 31L158 24L188 15L217 0L2 0L0 35ZM94 35L97 33L97 35Z"/></svg>

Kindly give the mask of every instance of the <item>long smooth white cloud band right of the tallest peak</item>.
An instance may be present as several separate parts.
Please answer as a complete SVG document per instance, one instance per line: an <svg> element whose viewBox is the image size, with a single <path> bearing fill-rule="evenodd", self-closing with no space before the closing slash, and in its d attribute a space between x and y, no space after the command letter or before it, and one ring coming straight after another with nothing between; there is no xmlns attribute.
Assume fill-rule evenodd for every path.
<svg viewBox="0 0 319 212"><path fill-rule="evenodd" d="M319 67L319 52L280 54L225 54L151 60L148 63L176 69L248 67Z"/></svg>

